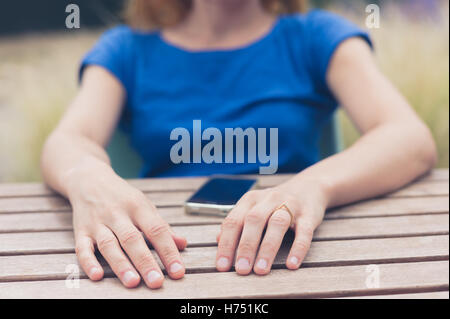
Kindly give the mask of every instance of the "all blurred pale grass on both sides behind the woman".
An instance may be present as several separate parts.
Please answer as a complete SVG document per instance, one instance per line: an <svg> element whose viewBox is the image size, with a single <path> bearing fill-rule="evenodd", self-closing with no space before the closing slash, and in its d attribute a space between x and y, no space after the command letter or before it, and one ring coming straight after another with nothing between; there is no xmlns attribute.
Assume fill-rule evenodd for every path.
<svg viewBox="0 0 450 319"><path fill-rule="evenodd" d="M448 167L449 17L443 3L439 22L413 21L389 8L381 28L371 33L380 68L431 128L438 166ZM80 31L0 40L0 181L41 179L40 150L75 95L79 60L98 35ZM339 117L345 145L351 145L359 134L345 114Z"/></svg>

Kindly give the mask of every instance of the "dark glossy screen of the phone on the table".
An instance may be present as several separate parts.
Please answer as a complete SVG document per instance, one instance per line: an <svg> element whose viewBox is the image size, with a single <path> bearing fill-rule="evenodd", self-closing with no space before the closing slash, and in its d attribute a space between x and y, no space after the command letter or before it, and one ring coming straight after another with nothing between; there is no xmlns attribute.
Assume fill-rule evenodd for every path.
<svg viewBox="0 0 450 319"><path fill-rule="evenodd" d="M235 205L255 183L254 179L211 178L187 202Z"/></svg>

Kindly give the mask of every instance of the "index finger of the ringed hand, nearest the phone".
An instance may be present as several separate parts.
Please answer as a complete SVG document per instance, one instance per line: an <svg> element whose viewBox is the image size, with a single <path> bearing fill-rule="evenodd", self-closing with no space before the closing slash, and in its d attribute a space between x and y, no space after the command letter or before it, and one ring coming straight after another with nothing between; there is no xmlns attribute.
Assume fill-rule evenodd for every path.
<svg viewBox="0 0 450 319"><path fill-rule="evenodd" d="M221 231L216 238L218 243L216 268L218 271L230 270L241 236L244 216L253 204L252 200L240 200L223 221Z"/></svg>

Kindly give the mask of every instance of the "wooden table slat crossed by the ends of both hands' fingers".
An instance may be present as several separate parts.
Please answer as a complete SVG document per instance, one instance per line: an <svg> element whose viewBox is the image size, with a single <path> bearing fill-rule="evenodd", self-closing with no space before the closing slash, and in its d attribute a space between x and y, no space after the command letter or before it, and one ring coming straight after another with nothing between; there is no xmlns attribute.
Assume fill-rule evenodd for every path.
<svg viewBox="0 0 450 319"><path fill-rule="evenodd" d="M448 260L448 245L448 236L313 242L302 267ZM216 251L216 247L200 247L182 252L187 273L214 272ZM275 259L274 268L284 268L288 252L286 243ZM0 257L0 282L64 279L66 267L72 264L78 264L75 254ZM113 276L104 260L102 264L106 276ZM87 278L80 271L81 278Z"/></svg>

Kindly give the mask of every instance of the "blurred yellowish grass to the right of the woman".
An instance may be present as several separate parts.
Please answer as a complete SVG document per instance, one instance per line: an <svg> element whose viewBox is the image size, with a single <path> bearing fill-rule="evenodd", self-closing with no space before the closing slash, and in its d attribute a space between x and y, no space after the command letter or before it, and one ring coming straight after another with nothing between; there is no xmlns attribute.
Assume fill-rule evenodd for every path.
<svg viewBox="0 0 450 319"><path fill-rule="evenodd" d="M449 10L443 2L434 20L411 21L398 8L385 9L381 28L371 31L384 74L430 127L439 151L438 167L449 167ZM355 19L353 19L355 20ZM345 145L359 133L341 111Z"/></svg>

